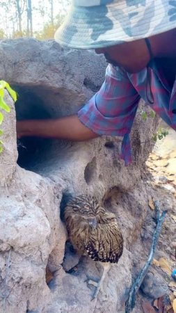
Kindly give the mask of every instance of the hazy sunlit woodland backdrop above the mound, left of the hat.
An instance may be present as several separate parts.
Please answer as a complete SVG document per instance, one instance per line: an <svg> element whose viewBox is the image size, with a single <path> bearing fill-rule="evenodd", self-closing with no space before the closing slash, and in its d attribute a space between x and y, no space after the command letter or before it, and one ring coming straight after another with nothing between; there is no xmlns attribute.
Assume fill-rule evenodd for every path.
<svg viewBox="0 0 176 313"><path fill-rule="evenodd" d="M69 4L70 0L0 0L0 39L54 38Z"/></svg>

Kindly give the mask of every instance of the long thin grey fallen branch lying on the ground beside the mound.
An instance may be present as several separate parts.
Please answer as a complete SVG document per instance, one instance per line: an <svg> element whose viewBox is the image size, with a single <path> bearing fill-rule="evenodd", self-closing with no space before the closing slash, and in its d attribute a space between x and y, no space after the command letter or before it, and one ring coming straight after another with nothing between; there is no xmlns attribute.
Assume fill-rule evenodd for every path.
<svg viewBox="0 0 176 313"><path fill-rule="evenodd" d="M156 226L156 230L154 231L152 246L150 248L150 255L149 255L147 262L145 263L145 266L143 267L142 271L138 274L138 276L136 277L136 280L134 280L133 284L131 284L131 288L129 290L129 298L127 299L127 301L125 303L125 313L130 313L134 309L135 300L136 300L136 293L138 292L138 289L141 287L143 279L145 278L145 275L147 274L147 271L150 268L150 265L152 264L152 260L154 258L154 252L155 252L155 249L157 246L157 241L159 239L159 234L161 232L163 220L166 216L167 211L163 211L160 214L159 201L154 202L154 209L157 212L157 226Z"/></svg>

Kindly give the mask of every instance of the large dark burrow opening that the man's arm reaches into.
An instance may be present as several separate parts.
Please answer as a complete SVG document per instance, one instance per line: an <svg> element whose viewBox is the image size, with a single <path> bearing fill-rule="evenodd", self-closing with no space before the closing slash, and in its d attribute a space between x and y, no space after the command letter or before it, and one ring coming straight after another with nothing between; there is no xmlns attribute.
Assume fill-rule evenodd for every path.
<svg viewBox="0 0 176 313"><path fill-rule="evenodd" d="M50 90L44 86L13 86L13 89L18 95L15 104L17 120L58 118L77 111L77 108L70 106L70 103L77 103L77 95L72 90ZM17 140L17 163L26 170L40 172L45 170L47 163L59 158L63 145L67 145L67 141L20 138Z"/></svg>

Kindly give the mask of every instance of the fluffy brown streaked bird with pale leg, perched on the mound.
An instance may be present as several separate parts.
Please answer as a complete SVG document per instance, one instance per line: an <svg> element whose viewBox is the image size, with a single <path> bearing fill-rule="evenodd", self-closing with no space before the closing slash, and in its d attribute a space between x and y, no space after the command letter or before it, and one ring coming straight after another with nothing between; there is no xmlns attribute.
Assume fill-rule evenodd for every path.
<svg viewBox="0 0 176 313"><path fill-rule="evenodd" d="M69 239L79 254L102 263L104 271L93 298L99 293L111 263L118 263L123 251L123 238L115 215L101 207L96 198L79 195L64 210ZM95 285L95 284L94 284Z"/></svg>

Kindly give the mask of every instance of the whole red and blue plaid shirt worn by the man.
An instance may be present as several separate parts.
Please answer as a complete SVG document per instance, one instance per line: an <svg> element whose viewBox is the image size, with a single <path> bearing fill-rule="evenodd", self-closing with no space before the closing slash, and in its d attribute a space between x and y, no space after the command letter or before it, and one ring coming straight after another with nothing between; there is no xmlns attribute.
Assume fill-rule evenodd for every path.
<svg viewBox="0 0 176 313"><path fill-rule="evenodd" d="M135 74L109 64L102 87L78 112L83 125L96 134L124 136L120 157L125 165L131 163L129 133L141 98L176 129L176 80L170 88L154 62Z"/></svg>

